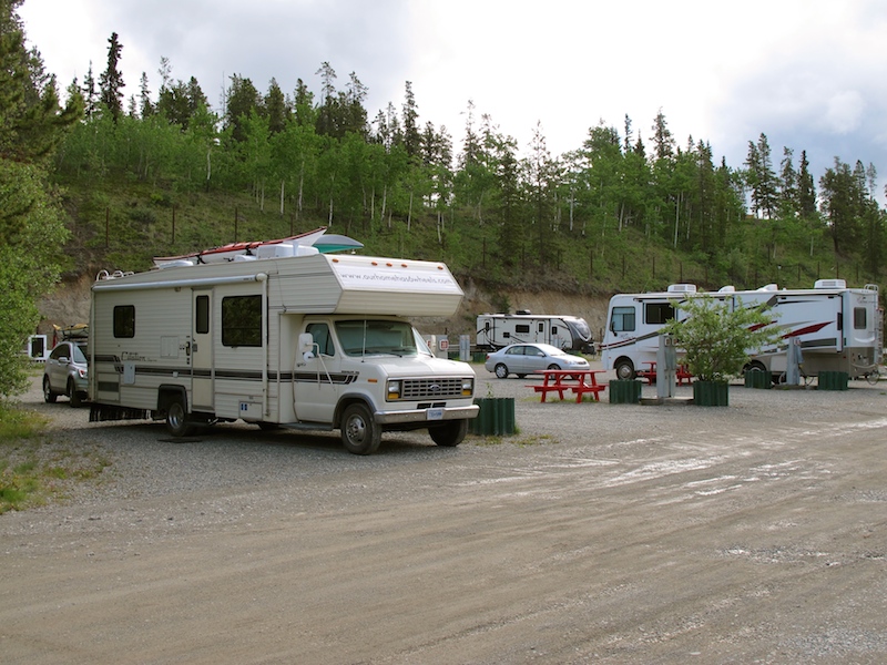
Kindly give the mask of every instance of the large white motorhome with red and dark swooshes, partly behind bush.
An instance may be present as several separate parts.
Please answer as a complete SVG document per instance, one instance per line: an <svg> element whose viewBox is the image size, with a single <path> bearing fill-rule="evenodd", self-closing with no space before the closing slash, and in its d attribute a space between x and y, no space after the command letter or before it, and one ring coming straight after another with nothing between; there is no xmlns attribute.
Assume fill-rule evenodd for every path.
<svg viewBox="0 0 887 665"><path fill-rule="evenodd" d="M673 284L666 291L619 294L610 299L606 331L601 342L604 369L621 379L636 376L643 364L656 360L659 332L669 319L681 319L681 303L702 295L692 284ZM881 313L878 288L847 288L844 279L819 279L812 289L778 289L769 284L756 290L731 286L707 295L732 308L769 305L782 344L750 349L746 368L769 371L774 381L786 371L787 342L801 345L803 376L844 371L850 378L877 376L881 356ZM676 307L675 307L676 305Z"/></svg>

